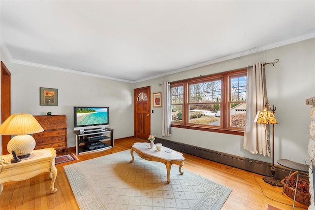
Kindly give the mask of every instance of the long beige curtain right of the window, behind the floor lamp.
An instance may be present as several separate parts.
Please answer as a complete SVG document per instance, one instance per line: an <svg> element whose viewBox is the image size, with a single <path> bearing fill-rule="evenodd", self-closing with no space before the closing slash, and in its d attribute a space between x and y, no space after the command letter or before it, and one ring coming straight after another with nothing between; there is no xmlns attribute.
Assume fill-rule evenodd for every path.
<svg viewBox="0 0 315 210"><path fill-rule="evenodd" d="M267 102L265 67L261 63L253 64L247 70L246 124L244 131L244 149L252 154L270 156L269 126L254 123L257 111L263 110Z"/></svg>

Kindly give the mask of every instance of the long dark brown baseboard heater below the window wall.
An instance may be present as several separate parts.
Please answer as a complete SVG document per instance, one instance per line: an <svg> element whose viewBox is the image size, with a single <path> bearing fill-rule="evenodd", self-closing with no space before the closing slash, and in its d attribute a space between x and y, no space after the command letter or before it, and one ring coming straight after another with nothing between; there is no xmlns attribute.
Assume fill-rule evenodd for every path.
<svg viewBox="0 0 315 210"><path fill-rule="evenodd" d="M255 174L259 174L259 175L271 176L271 171L270 171L271 166L272 166L271 163L252 160L249 158L239 157L239 156L235 156L231 154L217 152L210 149L205 149L205 148L201 148L201 147L197 147L197 146L193 146L189 144L183 144L176 141L165 140L161 138L156 138L154 142L162 143L163 146L166 146L168 148L181 151L190 155L194 155L197 157L201 157L207 160L215 161L215 162L227 165L227 166L243 169L243 170L246 170ZM277 163L276 160L275 160L275 163ZM275 178L281 180L285 176L289 175L290 170L276 164L275 164L275 168L276 168ZM308 178L307 174L302 174L302 176L305 176L305 178Z"/></svg>

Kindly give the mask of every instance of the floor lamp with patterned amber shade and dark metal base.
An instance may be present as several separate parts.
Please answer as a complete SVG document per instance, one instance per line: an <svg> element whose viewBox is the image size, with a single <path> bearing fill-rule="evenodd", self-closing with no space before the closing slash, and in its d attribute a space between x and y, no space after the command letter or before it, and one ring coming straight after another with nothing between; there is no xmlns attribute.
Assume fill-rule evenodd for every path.
<svg viewBox="0 0 315 210"><path fill-rule="evenodd" d="M267 111L267 105L269 106L270 111ZM278 124L275 117L275 110L276 110L276 107L274 107L274 105L272 105L272 109L271 109L269 103L266 103L264 110L257 112L254 122L262 123L262 124L272 124L272 167L271 167L272 176L265 176L262 179L268 184L281 187L282 186L281 181L274 177L276 173L276 169L274 165L275 124Z"/></svg>

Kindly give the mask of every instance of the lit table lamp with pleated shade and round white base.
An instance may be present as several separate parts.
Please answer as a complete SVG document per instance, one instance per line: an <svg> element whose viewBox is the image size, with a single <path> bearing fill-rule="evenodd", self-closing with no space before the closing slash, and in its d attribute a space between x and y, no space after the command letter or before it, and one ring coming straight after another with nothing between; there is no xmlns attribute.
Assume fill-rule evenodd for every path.
<svg viewBox="0 0 315 210"><path fill-rule="evenodd" d="M32 114L12 114L0 125L0 135L17 135L7 144L10 154L15 151L18 158L27 158L35 148L31 135L44 131Z"/></svg>

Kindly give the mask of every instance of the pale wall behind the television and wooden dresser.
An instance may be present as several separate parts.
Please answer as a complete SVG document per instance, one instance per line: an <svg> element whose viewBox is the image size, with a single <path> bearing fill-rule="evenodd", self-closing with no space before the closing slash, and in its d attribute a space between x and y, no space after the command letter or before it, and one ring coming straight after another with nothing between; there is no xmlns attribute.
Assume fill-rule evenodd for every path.
<svg viewBox="0 0 315 210"><path fill-rule="evenodd" d="M109 106L114 139L133 136L133 84L11 63L11 113L67 117L68 147L75 146L73 106ZM58 89L58 106L40 105L40 87Z"/></svg>

